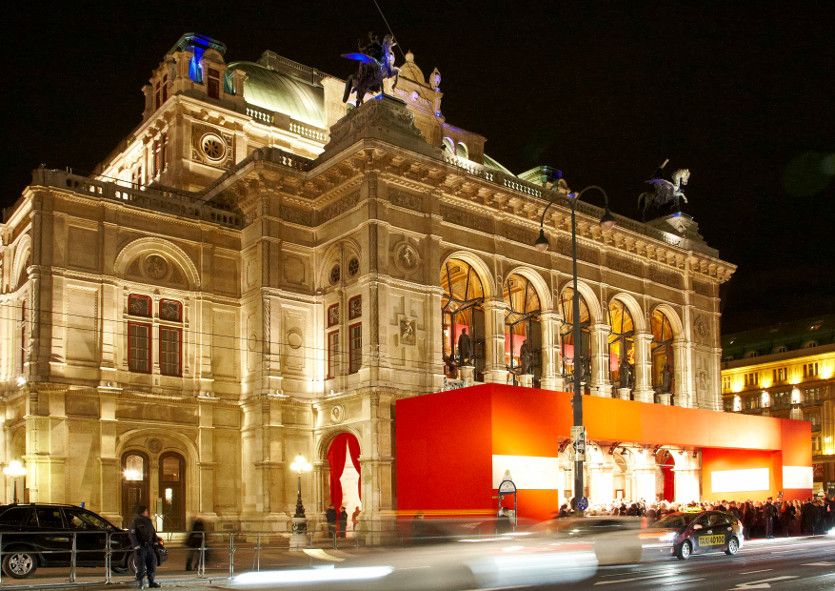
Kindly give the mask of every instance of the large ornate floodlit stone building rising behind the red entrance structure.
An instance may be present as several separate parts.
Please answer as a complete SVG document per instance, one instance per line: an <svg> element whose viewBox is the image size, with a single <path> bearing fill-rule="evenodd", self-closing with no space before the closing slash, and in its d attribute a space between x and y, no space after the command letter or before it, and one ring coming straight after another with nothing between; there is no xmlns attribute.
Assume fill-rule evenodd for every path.
<svg viewBox="0 0 835 591"><path fill-rule="evenodd" d="M351 111L342 80L224 54L183 37L96 175L38 169L6 212L0 456L25 461L31 500L119 521L150 499L164 529L200 515L283 530L293 456L313 463L302 492L319 515L329 446L350 433L364 515L381 515L396 399L470 379L566 388L568 186L511 174L448 124L440 75L411 54L399 100ZM719 409L733 265L686 217L604 231L599 215L578 205L588 391ZM479 292L460 308L465 275ZM472 372L449 364L463 326Z"/></svg>

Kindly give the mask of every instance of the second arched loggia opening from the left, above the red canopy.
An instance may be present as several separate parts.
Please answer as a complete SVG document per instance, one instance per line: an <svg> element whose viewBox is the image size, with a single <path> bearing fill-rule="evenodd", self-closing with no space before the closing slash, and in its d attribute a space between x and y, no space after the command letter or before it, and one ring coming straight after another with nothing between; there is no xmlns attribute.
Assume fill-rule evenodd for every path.
<svg viewBox="0 0 835 591"><path fill-rule="evenodd" d="M504 320L505 363L515 374L533 374L538 387L542 358L539 295L527 277L513 274L504 283L504 301L510 308Z"/></svg>

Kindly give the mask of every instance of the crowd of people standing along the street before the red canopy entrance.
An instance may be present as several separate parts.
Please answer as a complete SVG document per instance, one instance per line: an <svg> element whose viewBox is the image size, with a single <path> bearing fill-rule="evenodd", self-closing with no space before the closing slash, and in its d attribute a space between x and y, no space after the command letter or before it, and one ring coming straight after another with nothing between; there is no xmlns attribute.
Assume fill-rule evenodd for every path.
<svg viewBox="0 0 835 591"><path fill-rule="evenodd" d="M651 526L655 521L676 511L726 511L740 520L746 538L773 538L775 536L821 535L835 528L835 497L812 497L806 501L717 501L700 503L672 503L658 501L626 502L589 507L586 515L623 515L641 517ZM560 507L559 517L573 514L570 503Z"/></svg>

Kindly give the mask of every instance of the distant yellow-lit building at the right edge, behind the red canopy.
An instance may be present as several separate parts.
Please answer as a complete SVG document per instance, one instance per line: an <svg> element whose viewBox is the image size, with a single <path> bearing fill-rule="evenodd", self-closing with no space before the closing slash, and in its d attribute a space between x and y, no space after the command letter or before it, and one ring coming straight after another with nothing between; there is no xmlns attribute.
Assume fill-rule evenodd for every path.
<svg viewBox="0 0 835 591"><path fill-rule="evenodd" d="M835 315L722 337L727 412L809 421L814 482L835 489Z"/></svg>

